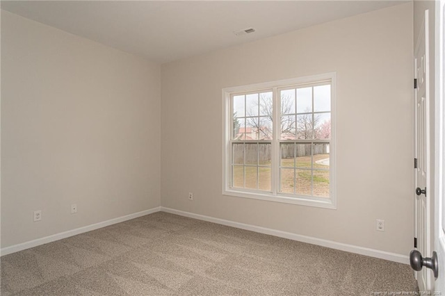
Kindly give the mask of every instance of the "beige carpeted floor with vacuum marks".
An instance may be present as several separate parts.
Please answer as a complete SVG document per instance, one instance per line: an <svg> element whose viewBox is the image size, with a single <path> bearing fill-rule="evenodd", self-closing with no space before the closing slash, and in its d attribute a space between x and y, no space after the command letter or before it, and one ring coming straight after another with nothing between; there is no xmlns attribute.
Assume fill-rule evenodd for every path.
<svg viewBox="0 0 445 296"><path fill-rule="evenodd" d="M378 295L409 265L154 213L1 257L1 295ZM380 294L380 295L383 295Z"/></svg>

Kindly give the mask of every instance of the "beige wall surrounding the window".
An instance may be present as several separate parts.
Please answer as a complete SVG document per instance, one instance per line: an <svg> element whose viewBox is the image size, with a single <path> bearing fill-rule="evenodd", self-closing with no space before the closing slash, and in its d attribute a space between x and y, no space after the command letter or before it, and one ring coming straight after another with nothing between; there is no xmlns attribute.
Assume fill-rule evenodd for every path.
<svg viewBox="0 0 445 296"><path fill-rule="evenodd" d="M406 3L163 65L161 205L407 255L412 22ZM326 72L338 75L337 210L223 196L221 89Z"/></svg>

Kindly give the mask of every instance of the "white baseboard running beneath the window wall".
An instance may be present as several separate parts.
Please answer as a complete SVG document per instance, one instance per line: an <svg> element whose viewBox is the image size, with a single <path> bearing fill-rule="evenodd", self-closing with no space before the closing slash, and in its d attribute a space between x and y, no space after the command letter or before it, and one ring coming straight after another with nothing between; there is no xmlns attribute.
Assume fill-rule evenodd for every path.
<svg viewBox="0 0 445 296"><path fill-rule="evenodd" d="M371 248L367 248L367 247L348 245L348 244L344 244L342 242L334 242L333 240L323 240L321 238L314 238L311 236L301 236L300 234L296 234L296 233L290 233L290 232L286 232L286 231L269 229L269 228L265 228L265 227L259 227L259 226L254 226L254 225L250 225L250 224L244 224L244 223L219 219L219 218L215 218L215 217L209 217L209 216L205 216L205 215L199 215L199 214L185 212L185 211L179 211L179 210L175 210L174 208L165 208L163 206L161 206L161 211L166 212L166 213L175 214L175 215L181 215L184 217L191 217L191 218L194 218L197 220L204 220L207 222L223 224L226 226L236 227L239 229L245 229L245 230L249 230L249 231L255 231L255 232L259 232L259 233L269 234L271 236L278 236L280 238L288 238L289 240L298 240L299 242L307 242L312 245L319 245L322 247L329 247L331 249L339 249L341 251L360 254L360 255L364 255L364 256L371 256L371 257L375 257L375 258L385 259L388 261L410 264L410 259L406 255L380 251L378 249L371 249Z"/></svg>

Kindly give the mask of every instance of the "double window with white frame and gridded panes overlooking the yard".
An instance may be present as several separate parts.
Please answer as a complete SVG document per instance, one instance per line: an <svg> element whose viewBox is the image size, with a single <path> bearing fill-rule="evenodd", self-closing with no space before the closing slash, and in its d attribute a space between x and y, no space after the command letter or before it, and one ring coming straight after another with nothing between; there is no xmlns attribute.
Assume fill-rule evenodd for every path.
<svg viewBox="0 0 445 296"><path fill-rule="evenodd" d="M223 194L335 208L336 74L223 90Z"/></svg>

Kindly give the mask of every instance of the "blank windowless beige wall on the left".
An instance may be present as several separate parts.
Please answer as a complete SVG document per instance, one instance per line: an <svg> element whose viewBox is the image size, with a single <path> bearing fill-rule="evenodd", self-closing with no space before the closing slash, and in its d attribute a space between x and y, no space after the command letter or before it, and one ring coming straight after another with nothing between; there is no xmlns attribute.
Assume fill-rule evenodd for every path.
<svg viewBox="0 0 445 296"><path fill-rule="evenodd" d="M159 206L159 65L5 11L1 64L2 248Z"/></svg>

